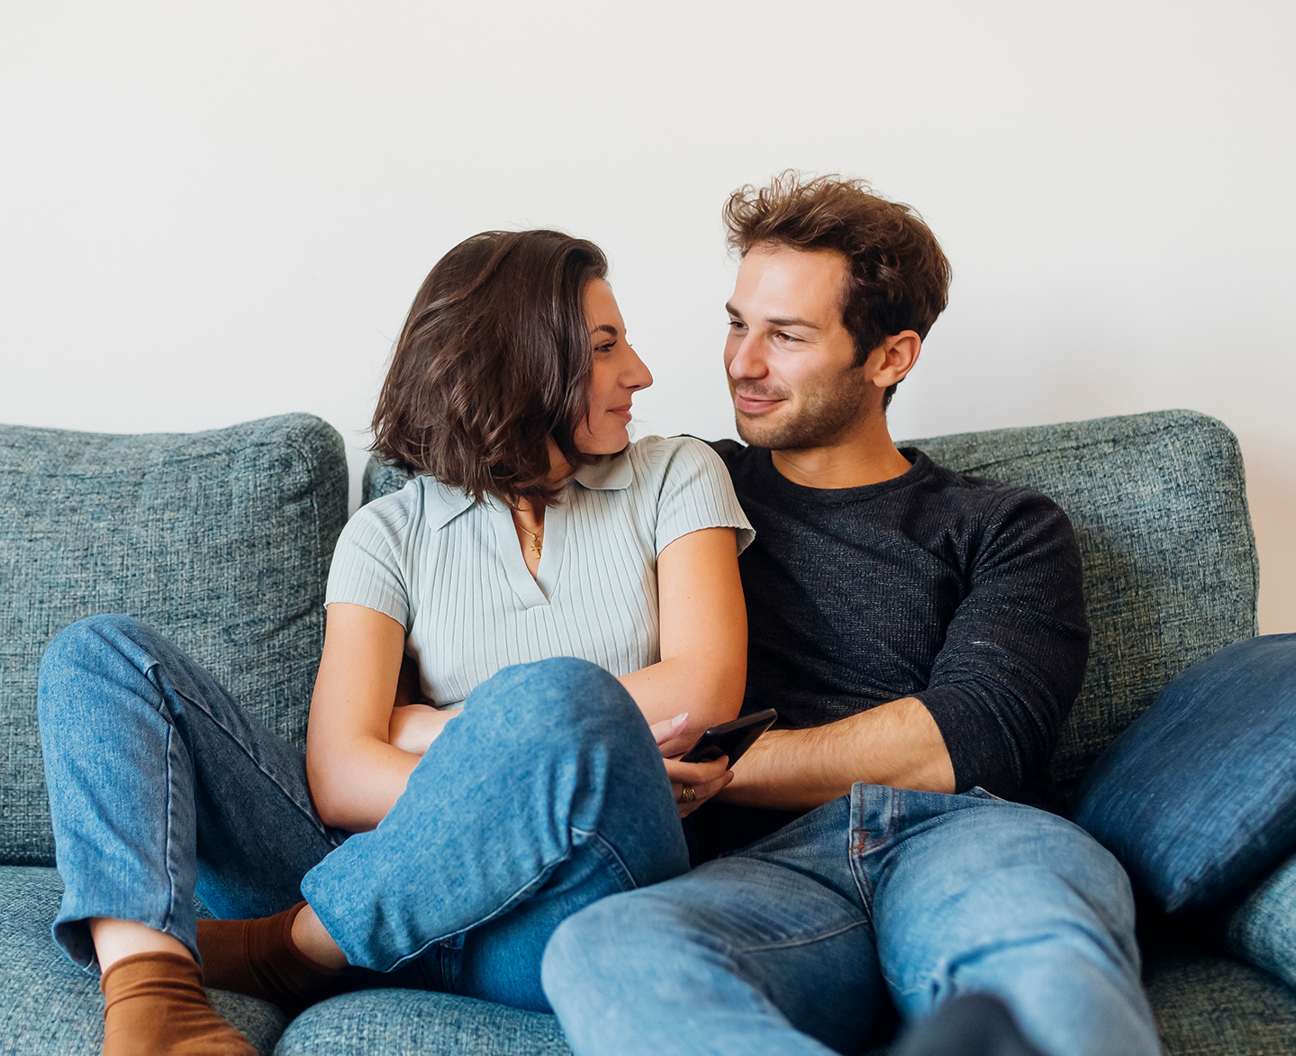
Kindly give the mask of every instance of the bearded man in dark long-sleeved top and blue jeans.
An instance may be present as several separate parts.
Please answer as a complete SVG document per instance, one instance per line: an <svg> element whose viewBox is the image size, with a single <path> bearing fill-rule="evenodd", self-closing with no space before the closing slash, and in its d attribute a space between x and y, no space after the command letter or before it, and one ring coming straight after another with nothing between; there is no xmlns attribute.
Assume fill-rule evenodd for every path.
<svg viewBox="0 0 1296 1056"><path fill-rule="evenodd" d="M985 1043L969 1031L1159 1052L1125 874L1030 806L1087 656L1070 525L886 428L946 304L940 245L832 178L743 188L726 222L749 446L714 446L757 529L744 711L779 728L696 813L706 864L555 934L544 987L574 1052L857 1052L893 1009L927 1024L911 1052Z"/></svg>

